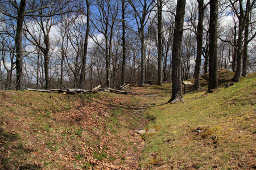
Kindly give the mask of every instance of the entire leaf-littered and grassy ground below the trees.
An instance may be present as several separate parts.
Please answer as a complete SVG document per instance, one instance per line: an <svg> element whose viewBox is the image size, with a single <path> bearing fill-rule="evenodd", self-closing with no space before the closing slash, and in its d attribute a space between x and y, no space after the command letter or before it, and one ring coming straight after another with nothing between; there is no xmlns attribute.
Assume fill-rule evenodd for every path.
<svg viewBox="0 0 256 170"><path fill-rule="evenodd" d="M128 95L0 91L0 169L256 169L255 75L224 88L232 73L219 70L212 94L204 75L177 104L166 104L171 84Z"/></svg>

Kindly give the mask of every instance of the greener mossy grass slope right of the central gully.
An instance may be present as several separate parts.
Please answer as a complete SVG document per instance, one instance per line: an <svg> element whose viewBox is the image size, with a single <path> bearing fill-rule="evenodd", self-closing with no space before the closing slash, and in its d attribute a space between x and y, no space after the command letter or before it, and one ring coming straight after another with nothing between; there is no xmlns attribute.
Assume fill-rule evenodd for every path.
<svg viewBox="0 0 256 170"><path fill-rule="evenodd" d="M243 78L224 88L230 80L219 77L224 84L213 94L186 94L185 103L178 104L163 104L163 98L148 110L156 119L147 128L160 128L154 135L144 135L144 167L256 168L256 79Z"/></svg>

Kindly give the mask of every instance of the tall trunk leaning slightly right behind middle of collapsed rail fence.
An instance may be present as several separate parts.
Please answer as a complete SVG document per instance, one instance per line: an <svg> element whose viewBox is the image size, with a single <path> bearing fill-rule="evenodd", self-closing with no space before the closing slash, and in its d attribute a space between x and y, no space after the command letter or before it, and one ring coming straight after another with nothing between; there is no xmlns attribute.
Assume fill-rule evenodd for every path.
<svg viewBox="0 0 256 170"><path fill-rule="evenodd" d="M81 73L79 78L79 88L82 88L82 83L85 82L85 67L86 67L86 57L87 57L87 48L88 48L88 38L89 38L89 27L90 27L90 4L86 0L86 31L85 31L85 40L84 40L84 53L82 54L82 66Z"/></svg>

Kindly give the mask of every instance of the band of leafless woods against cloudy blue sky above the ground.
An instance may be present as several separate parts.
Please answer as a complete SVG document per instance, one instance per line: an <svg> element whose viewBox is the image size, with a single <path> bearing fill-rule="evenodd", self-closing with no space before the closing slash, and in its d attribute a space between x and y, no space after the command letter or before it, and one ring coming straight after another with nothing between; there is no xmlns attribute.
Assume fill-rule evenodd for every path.
<svg viewBox="0 0 256 170"><path fill-rule="evenodd" d="M199 89L212 64L238 82L256 71L255 0L216 2L213 35L210 1L187 1L176 51L173 0L1 1L0 89L161 86L177 73Z"/></svg>

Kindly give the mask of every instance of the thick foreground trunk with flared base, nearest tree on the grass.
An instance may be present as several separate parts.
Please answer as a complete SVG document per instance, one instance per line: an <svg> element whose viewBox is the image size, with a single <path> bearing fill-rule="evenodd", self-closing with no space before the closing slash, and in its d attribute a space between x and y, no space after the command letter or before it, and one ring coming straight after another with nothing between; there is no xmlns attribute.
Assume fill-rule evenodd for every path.
<svg viewBox="0 0 256 170"><path fill-rule="evenodd" d="M184 101L181 86L180 68L185 4L185 0L177 0L177 10L174 28L174 43L172 46L172 97L168 101L168 103Z"/></svg>

